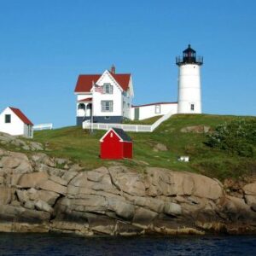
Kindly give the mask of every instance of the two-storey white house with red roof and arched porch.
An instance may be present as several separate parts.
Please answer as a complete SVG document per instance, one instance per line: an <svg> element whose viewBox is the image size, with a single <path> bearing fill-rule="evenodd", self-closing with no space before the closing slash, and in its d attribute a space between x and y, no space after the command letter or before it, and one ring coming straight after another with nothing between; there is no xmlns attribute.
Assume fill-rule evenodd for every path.
<svg viewBox="0 0 256 256"><path fill-rule="evenodd" d="M83 121L121 123L131 119L133 86L130 73L115 73L115 67L102 74L79 75L77 125Z"/></svg>

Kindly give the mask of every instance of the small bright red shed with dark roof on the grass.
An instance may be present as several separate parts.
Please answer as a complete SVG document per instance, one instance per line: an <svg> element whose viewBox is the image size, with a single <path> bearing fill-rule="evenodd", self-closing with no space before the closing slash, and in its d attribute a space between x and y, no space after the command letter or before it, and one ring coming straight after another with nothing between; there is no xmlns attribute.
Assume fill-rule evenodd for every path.
<svg viewBox="0 0 256 256"><path fill-rule="evenodd" d="M100 142L102 159L132 158L131 137L123 129L109 129Z"/></svg>

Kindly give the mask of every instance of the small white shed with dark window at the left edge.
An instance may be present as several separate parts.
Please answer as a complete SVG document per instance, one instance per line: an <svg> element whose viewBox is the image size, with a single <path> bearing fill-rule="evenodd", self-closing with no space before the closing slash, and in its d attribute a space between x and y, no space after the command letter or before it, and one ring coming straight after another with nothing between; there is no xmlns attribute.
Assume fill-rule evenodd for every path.
<svg viewBox="0 0 256 256"><path fill-rule="evenodd" d="M33 137L33 124L19 108L5 108L0 113L0 131L14 136Z"/></svg>

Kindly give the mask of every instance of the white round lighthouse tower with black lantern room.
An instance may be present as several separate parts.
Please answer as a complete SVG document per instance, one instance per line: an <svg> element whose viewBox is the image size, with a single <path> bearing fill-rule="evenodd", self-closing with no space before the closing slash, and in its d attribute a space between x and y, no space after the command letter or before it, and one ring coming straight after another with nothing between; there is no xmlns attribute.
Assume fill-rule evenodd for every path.
<svg viewBox="0 0 256 256"><path fill-rule="evenodd" d="M203 58L190 47L176 57L178 70L177 113L201 113L200 68Z"/></svg>

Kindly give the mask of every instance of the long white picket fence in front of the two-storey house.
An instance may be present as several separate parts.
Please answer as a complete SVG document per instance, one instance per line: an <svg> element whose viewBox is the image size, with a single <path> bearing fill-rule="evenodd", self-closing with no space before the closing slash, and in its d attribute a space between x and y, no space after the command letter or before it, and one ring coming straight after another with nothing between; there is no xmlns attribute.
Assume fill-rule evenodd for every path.
<svg viewBox="0 0 256 256"><path fill-rule="evenodd" d="M162 122L166 121L172 116L173 113L166 113L160 119L154 122L153 125L126 125L126 124L103 124L103 123L93 123L84 122L83 129L95 129L95 130L108 130L110 128L121 128L124 131L136 131L136 132L152 132L156 129Z"/></svg>

